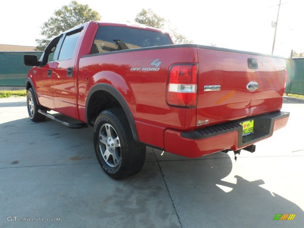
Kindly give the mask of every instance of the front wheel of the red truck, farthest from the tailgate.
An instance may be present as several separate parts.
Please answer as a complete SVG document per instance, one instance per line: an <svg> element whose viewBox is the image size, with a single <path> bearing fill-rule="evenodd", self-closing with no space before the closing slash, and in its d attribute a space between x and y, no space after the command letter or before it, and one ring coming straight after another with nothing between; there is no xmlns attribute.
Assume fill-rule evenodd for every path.
<svg viewBox="0 0 304 228"><path fill-rule="evenodd" d="M33 88L29 88L29 90L27 91L26 103L27 103L27 112L29 113L29 119L31 119L33 122L41 122L45 120L46 116L38 112L40 106L37 104Z"/></svg>

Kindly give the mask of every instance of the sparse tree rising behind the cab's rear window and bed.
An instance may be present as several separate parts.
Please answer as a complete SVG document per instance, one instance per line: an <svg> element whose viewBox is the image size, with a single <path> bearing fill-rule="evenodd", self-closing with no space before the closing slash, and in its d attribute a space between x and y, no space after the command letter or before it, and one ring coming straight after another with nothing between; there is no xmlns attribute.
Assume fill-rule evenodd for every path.
<svg viewBox="0 0 304 228"><path fill-rule="evenodd" d="M179 43L192 43L192 40L188 40L187 37L183 34L177 33L177 28L172 29L170 24L171 22L165 20L164 18L158 16L151 9L145 10L142 9L135 18L136 23L140 23L146 26L154 27L157 29L168 28L168 33L173 39L173 42L176 44Z"/></svg>

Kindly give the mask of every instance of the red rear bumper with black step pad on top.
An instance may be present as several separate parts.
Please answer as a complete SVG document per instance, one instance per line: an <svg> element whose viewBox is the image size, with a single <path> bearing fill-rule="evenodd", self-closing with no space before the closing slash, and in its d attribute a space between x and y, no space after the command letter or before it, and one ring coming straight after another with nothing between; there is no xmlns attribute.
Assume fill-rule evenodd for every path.
<svg viewBox="0 0 304 228"><path fill-rule="evenodd" d="M217 151L239 150L270 137L275 130L287 124L289 112L272 112L208 126L192 132L166 130L164 149L185 157L200 157ZM239 124L254 119L254 133L243 137L243 127Z"/></svg>

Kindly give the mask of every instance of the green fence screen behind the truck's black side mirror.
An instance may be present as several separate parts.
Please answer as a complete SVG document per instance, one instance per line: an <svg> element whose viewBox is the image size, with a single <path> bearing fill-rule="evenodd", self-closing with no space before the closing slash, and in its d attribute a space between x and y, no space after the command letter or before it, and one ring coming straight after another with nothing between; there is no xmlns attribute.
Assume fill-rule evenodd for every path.
<svg viewBox="0 0 304 228"><path fill-rule="evenodd" d="M31 67L23 64L23 55L36 55L43 52L0 52L0 86L25 86L27 72Z"/></svg>

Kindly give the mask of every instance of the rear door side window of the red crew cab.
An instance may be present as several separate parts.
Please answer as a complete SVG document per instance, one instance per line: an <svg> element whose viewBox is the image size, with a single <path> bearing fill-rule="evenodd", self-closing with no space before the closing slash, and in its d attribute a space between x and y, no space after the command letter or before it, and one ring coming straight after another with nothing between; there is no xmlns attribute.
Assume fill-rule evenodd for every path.
<svg viewBox="0 0 304 228"><path fill-rule="evenodd" d="M72 31L66 34L58 60L66 60L72 58L80 33L81 31L77 29L76 32Z"/></svg>

